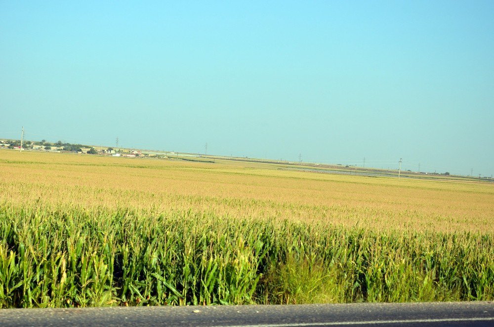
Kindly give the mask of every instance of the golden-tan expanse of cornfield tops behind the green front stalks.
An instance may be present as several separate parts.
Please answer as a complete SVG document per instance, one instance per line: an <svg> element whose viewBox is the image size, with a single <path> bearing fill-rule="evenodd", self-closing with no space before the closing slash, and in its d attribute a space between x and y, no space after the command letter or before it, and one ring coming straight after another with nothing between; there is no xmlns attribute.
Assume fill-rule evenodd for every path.
<svg viewBox="0 0 494 327"><path fill-rule="evenodd" d="M374 230L494 231L494 185L316 174L275 164L0 152L4 201L325 221Z"/></svg>

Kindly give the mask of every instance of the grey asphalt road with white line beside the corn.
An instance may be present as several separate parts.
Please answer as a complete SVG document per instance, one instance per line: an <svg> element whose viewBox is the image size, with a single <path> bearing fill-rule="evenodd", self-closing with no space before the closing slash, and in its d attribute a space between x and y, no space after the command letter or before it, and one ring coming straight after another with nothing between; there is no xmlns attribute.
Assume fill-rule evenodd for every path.
<svg viewBox="0 0 494 327"><path fill-rule="evenodd" d="M0 309L0 326L494 326L494 302Z"/></svg>

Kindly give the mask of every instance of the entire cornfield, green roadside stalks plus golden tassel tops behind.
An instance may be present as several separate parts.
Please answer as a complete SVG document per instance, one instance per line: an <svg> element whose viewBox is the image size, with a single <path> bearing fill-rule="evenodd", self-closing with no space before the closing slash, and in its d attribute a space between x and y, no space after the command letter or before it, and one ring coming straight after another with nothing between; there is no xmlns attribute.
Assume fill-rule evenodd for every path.
<svg viewBox="0 0 494 327"><path fill-rule="evenodd" d="M494 300L494 185L0 151L0 307Z"/></svg>

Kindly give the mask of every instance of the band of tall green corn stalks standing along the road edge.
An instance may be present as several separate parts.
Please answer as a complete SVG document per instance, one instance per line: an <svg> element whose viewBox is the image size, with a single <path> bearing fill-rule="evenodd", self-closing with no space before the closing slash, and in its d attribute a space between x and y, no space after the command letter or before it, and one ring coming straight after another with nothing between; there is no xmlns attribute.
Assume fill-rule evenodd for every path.
<svg viewBox="0 0 494 327"><path fill-rule="evenodd" d="M493 235L0 205L0 307L494 299Z"/></svg>

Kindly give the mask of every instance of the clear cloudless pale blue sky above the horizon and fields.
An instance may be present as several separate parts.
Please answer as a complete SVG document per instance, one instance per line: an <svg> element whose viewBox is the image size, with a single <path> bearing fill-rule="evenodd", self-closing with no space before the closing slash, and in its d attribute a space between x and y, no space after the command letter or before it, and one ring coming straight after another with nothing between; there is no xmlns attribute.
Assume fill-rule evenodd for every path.
<svg viewBox="0 0 494 327"><path fill-rule="evenodd" d="M494 1L0 0L0 137L494 174Z"/></svg>

